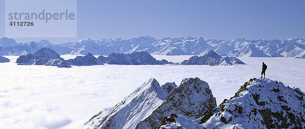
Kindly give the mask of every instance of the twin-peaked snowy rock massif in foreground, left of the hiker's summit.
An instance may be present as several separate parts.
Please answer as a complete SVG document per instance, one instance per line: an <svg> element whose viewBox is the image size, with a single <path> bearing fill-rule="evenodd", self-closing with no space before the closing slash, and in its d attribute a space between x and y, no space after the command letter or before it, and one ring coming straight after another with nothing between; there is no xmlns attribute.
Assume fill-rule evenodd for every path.
<svg viewBox="0 0 305 129"><path fill-rule="evenodd" d="M160 86L150 79L114 107L104 109L86 122L87 128L158 128L164 116L183 114L198 118L216 107L208 84L199 78L186 78L179 86Z"/></svg>

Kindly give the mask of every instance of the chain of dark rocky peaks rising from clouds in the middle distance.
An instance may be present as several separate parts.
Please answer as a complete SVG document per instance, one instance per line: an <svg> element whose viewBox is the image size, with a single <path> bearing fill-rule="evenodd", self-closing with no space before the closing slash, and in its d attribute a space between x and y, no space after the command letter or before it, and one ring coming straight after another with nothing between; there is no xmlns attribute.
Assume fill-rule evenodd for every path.
<svg viewBox="0 0 305 129"><path fill-rule="evenodd" d="M3 59L2 59L3 58ZM9 59L0 56L0 62L8 62ZM88 53L85 56L76 56L74 59L65 60L58 53L50 48L42 48L34 54L20 55L17 58L18 65L45 65L57 66L59 68L71 68L72 66L95 66L103 64L124 64L124 65L163 65L163 64L183 64L183 65L210 65L210 66L230 66L232 64L246 64L236 57L222 57L213 50L209 50L202 56L193 56L189 60L181 63L169 62L165 59L157 60L146 51L133 52L131 54L111 53L109 56L100 55L96 58Z"/></svg>

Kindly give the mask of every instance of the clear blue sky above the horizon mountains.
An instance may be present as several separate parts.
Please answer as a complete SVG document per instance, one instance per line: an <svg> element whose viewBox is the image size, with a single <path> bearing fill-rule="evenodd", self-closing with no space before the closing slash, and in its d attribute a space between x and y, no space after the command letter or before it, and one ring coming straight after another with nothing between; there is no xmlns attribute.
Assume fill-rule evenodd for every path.
<svg viewBox="0 0 305 129"><path fill-rule="evenodd" d="M77 38L15 39L47 39L57 44L84 38L140 36L202 36L205 40L305 38L304 5L305 1L77 1ZM4 0L0 11L0 24L5 24ZM4 28L0 25L0 37L5 36Z"/></svg>

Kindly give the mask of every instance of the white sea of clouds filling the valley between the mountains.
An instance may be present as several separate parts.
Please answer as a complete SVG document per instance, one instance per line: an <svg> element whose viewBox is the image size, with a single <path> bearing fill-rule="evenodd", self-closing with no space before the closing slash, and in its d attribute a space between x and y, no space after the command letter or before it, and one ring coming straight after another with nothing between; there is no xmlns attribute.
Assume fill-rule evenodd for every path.
<svg viewBox="0 0 305 129"><path fill-rule="evenodd" d="M190 56L153 55L156 59L179 62ZM266 78L282 81L305 91L305 60L287 57L237 57L246 65L172 66L105 65L19 66L18 56L4 56L0 63L0 127L83 128L102 109L113 107L150 78L160 84L199 77L206 81L218 105L229 99L240 85L260 77L261 62ZM74 58L65 55L65 59Z"/></svg>

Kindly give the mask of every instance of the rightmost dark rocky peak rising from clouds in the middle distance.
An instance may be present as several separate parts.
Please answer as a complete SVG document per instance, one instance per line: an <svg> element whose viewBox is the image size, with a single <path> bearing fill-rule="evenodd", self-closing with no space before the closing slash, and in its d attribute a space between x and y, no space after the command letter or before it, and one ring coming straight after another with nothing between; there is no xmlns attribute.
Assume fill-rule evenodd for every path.
<svg viewBox="0 0 305 129"><path fill-rule="evenodd" d="M246 64L236 57L222 57L213 50L203 53L202 56L192 56L188 60L180 62L183 65L209 65L209 66L229 66L232 64Z"/></svg>

